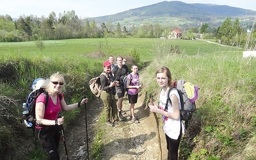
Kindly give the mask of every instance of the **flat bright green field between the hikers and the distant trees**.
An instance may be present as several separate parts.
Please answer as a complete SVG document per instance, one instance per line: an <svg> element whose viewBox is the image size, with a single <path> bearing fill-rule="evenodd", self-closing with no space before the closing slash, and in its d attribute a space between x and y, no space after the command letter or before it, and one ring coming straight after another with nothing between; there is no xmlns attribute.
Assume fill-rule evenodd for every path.
<svg viewBox="0 0 256 160"><path fill-rule="evenodd" d="M149 38L98 38L98 39L74 39L74 40L56 40L44 41L45 48L40 51L34 42L13 42L0 43L0 55L3 58L12 54L14 57L50 57L54 60L64 57L74 58L76 61L83 61L88 54L93 52L104 52L106 55L127 56L131 49L136 48L140 53L141 61L151 61L154 52L154 45L166 40ZM180 52L188 55L212 54L214 52L227 51L236 48L223 47L217 44L209 44L204 41L190 40L168 40L173 46L178 46ZM77 58L78 56L78 58ZM84 57L84 58L79 58Z"/></svg>

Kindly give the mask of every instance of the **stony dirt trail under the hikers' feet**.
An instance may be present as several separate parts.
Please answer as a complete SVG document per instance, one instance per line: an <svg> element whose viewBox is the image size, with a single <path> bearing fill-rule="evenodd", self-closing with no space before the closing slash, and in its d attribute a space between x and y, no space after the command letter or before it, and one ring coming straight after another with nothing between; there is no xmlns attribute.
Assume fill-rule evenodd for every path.
<svg viewBox="0 0 256 160"><path fill-rule="evenodd" d="M106 134L102 137L104 143L103 159L159 159L156 120L153 114L145 110L143 95L139 95L138 103L134 109L135 115L140 118L139 124L134 124L129 120L129 102L127 97L124 98L123 111L126 112L124 116L127 120L125 120L124 124L118 124L115 127L106 126ZM90 105L86 106L89 148L95 136L95 127L99 122L99 115L102 110L103 104L100 99L93 99ZM86 159L85 124L85 114L83 112L76 122L65 129L69 159ZM166 157L166 143L163 129L160 128L159 131L161 134L163 157ZM62 142L60 152L61 159L66 159ZM89 154L91 154L90 150Z"/></svg>

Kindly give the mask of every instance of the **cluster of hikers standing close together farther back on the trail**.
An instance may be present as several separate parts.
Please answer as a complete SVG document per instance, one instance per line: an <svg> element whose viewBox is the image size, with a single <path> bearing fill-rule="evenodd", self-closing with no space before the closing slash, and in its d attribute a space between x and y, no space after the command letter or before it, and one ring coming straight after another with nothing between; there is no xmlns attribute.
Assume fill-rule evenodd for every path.
<svg viewBox="0 0 256 160"><path fill-rule="evenodd" d="M116 58L116 64L113 63L113 56L109 56L108 61L103 63L103 72L100 74L100 85L102 92L100 93L100 99L104 104L104 109L106 112L106 125L112 127L115 124L120 124L125 120L123 116L124 112L122 111L123 100L125 96L125 79L129 79L127 86L127 93L130 107L130 119L132 122L138 124L140 121L134 115L134 104L138 100L138 90L141 88L140 77L138 74L138 66L132 65L132 72L129 74L129 69L125 65L126 60L124 61L121 56ZM127 75L131 75L127 77ZM127 77L127 78L125 78ZM118 101L116 102L116 96Z"/></svg>

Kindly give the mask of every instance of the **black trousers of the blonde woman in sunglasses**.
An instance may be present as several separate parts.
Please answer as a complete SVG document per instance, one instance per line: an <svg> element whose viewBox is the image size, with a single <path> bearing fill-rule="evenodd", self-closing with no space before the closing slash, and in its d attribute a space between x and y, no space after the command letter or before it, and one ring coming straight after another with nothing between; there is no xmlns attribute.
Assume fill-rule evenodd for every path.
<svg viewBox="0 0 256 160"><path fill-rule="evenodd" d="M49 159L58 160L60 155L58 153L58 146L61 136L60 125L43 126L42 129L38 129L38 140L44 148Z"/></svg>

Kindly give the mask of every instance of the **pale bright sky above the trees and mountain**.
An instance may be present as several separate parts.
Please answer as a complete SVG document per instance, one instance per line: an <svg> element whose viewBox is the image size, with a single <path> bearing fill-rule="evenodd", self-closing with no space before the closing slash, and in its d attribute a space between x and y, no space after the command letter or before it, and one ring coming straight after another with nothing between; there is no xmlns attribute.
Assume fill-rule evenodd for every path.
<svg viewBox="0 0 256 160"><path fill-rule="evenodd" d="M162 0L164 1L164 0ZM111 15L125 10L156 4L157 0L0 0L0 15L19 18L20 15L48 17L52 11L58 16L64 11L74 10L80 18ZM256 10L255 0L180 0L184 3L228 5Z"/></svg>

